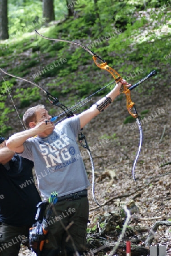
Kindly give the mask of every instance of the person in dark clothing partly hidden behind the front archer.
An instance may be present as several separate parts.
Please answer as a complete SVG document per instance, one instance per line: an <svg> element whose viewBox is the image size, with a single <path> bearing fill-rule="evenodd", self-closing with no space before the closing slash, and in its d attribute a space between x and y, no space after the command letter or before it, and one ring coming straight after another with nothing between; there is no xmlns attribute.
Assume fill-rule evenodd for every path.
<svg viewBox="0 0 171 256"><path fill-rule="evenodd" d="M35 187L34 163L16 155L0 137L0 255L17 256L29 236L41 201Z"/></svg>

